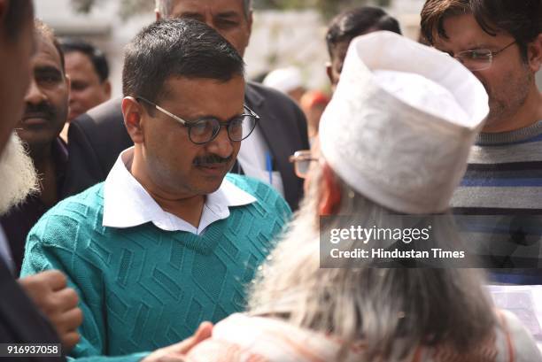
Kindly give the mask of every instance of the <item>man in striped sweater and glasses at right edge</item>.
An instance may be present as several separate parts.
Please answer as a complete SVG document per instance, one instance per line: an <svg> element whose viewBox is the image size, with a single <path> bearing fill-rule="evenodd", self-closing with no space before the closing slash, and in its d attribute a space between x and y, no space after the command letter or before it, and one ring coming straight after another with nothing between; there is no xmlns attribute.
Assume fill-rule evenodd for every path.
<svg viewBox="0 0 542 362"><path fill-rule="evenodd" d="M468 215L468 238L489 242L482 253L492 266L522 268L496 270L500 282L542 284L541 33L541 0L427 0L422 9L428 42L468 67L490 97L452 206Z"/></svg>

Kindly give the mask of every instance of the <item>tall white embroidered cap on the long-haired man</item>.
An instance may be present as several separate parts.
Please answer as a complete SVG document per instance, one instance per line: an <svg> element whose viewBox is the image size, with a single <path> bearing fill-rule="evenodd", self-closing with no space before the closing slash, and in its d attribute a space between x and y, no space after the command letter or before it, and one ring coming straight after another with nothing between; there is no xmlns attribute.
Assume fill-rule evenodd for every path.
<svg viewBox="0 0 542 362"><path fill-rule="evenodd" d="M363 196L396 212L445 212L489 112L476 77L391 32L354 39L320 123L321 153Z"/></svg>

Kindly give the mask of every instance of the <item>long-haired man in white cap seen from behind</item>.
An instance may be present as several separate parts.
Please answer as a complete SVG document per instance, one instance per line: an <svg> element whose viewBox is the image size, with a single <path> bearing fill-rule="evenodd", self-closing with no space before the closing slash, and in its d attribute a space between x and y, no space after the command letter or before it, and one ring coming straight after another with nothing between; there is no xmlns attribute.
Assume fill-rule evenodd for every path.
<svg viewBox="0 0 542 362"><path fill-rule="evenodd" d="M317 162L289 235L249 312L217 324L187 360L541 361L518 320L493 310L474 269L321 267L321 214L333 226L337 215L446 212L488 111L482 84L453 58L389 32L353 40L321 120L321 156L295 158L298 171Z"/></svg>

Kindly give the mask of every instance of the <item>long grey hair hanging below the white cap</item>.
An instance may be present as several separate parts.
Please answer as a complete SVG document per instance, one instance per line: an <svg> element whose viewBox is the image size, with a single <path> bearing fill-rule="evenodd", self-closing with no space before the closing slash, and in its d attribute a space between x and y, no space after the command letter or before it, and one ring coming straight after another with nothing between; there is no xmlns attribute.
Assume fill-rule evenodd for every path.
<svg viewBox="0 0 542 362"><path fill-rule="evenodd" d="M421 346L468 352L492 337L496 318L484 276L475 269L377 269L358 264L321 268L320 181L321 172L290 230L259 268L249 293L249 312L331 333L344 342L343 357L348 347L362 341L367 345L364 361L403 361ZM343 190L337 214L352 215L352 222L397 214L352 191L344 181L337 182ZM438 229L448 238L457 236L453 222L434 227Z"/></svg>

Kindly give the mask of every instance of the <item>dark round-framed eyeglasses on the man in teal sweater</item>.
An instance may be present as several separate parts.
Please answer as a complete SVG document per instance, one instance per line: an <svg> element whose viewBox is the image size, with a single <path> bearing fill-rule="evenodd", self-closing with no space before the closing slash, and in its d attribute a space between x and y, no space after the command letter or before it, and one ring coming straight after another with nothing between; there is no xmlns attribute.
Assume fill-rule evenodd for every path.
<svg viewBox="0 0 542 362"><path fill-rule="evenodd" d="M239 114L226 122L221 122L219 119L215 118L204 118L188 121L179 116L175 116L172 112L165 110L158 104L152 103L148 99L143 98L143 96L136 96L136 101L143 101L144 103L151 105L157 111L166 114L166 116L175 119L177 122L182 124L182 126L187 127L190 141L196 144L204 144L213 141L213 139L216 138L221 131L221 127L226 127L228 130L228 137L230 141L243 141L246 137L252 134L252 131L256 127L259 119L258 114L244 105L244 110L246 112Z"/></svg>

